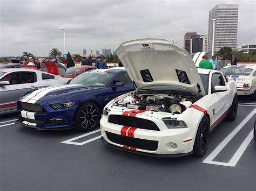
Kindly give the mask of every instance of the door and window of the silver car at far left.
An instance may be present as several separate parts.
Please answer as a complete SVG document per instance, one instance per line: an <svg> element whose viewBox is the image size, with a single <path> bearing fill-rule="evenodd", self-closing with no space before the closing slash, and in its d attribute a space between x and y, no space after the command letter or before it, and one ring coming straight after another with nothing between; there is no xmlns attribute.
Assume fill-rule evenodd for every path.
<svg viewBox="0 0 256 191"><path fill-rule="evenodd" d="M2 76L0 81L10 84L0 86L0 105L6 105L5 110L8 110L8 105L16 104L23 94L38 87L36 77L35 72L12 72Z"/></svg>

